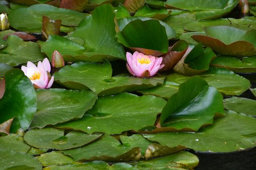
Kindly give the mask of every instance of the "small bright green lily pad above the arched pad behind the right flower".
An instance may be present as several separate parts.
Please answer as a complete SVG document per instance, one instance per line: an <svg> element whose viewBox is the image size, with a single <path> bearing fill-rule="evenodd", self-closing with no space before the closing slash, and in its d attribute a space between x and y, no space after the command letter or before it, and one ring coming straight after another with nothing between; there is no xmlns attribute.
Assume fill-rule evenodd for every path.
<svg viewBox="0 0 256 170"><path fill-rule="evenodd" d="M144 7L140 8L134 16L144 16L144 17L149 17L149 18L155 18L162 20L169 16L171 13L171 10L167 9L152 9L148 5L144 5Z"/></svg>

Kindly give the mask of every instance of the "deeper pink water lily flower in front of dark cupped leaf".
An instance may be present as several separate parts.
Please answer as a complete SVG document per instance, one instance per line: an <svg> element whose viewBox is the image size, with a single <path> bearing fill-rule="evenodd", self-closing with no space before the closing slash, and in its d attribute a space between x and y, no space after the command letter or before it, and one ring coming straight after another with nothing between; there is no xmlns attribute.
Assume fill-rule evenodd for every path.
<svg viewBox="0 0 256 170"><path fill-rule="evenodd" d="M126 67L136 77L148 78L157 74L164 64L162 57L147 56L139 52L126 53Z"/></svg>

